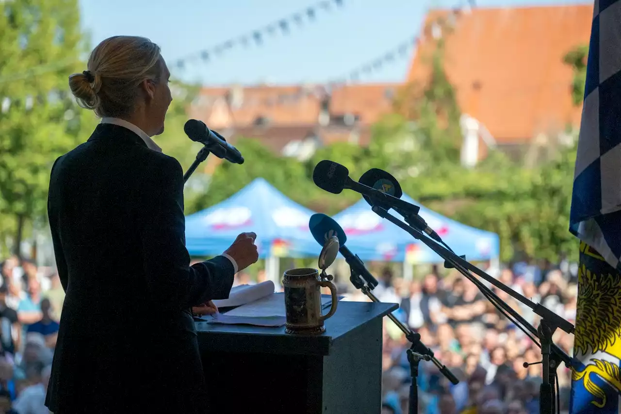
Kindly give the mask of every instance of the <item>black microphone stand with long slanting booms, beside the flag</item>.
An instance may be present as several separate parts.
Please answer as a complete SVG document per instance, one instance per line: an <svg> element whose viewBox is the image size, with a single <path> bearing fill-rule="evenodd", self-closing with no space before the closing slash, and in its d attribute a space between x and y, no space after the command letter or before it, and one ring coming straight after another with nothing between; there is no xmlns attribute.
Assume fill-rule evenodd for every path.
<svg viewBox="0 0 621 414"><path fill-rule="evenodd" d="M515 320L519 321L519 323L524 326L524 328L528 329L530 333L534 336L537 336L541 342L542 349L542 385L540 386L540 399L539 399L539 410L541 414L551 414L554 409L558 410L558 405L555 404L555 390L554 384L555 382L558 384L558 379L556 377L556 368L560 365L561 362L564 362L565 366L571 368L573 366L574 359L569 357L562 349L556 346L552 342L552 335L554 334L556 328L561 328L566 333L574 333L573 324L564 320L560 316L556 315L556 313L550 311L545 306L542 306L540 303L533 303L533 301L528 300L520 293L515 292L512 288L504 285L504 283L499 282L495 278L483 272L483 270L469 263L462 257L456 255L450 250L446 249L443 246L440 246L432 239L425 237L424 233L419 229L412 228L408 226L406 223L403 223L401 220L389 214L387 209L381 208L379 206L373 206L373 212L378 214L381 218L388 219L392 224L396 224L399 228L404 229L409 234L411 234L416 239L424 242L430 249L436 252L442 259L445 259L448 263L452 264L455 269L457 269L461 274L463 274L466 278L471 280L479 290L482 290L489 297L488 299L492 302L493 305L498 305L497 307L504 308L507 313L510 313L511 316L515 318ZM422 237L421 237L422 236ZM474 274L479 275L487 282L496 286L497 288L503 290L508 293L510 296L519 300L520 302L527 305L531 308L537 315L541 316L542 320L540 322L539 328L535 329L528 321L526 321L522 316L519 315L513 308L511 308L507 303L501 300L501 298L497 297L497 295L489 290L483 283L479 282L470 272L474 272ZM493 300L491 300L493 299ZM496 302L496 303L494 303ZM556 395L558 398L558 395ZM555 407L556 405L556 407Z"/></svg>

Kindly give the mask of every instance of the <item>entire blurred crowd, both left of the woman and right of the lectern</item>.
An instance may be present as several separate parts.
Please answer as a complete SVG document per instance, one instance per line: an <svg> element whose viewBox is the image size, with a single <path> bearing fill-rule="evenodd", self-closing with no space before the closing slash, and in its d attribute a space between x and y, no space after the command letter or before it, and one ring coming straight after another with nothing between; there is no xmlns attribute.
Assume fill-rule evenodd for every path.
<svg viewBox="0 0 621 414"><path fill-rule="evenodd" d="M489 269L488 269L489 270ZM58 321L65 293L54 269L16 257L0 267L0 414L48 414L45 392L50 376ZM578 287L575 269L515 265L494 272L505 285L574 323ZM235 284L262 282L240 273ZM492 290L529 323L538 316L507 293ZM339 287L345 293L346 287ZM345 300L368 300L347 287ZM420 414L535 414L539 412L542 365L540 349L499 313L478 288L458 273L437 270L416 280L393 277L385 270L374 293L381 301L399 303L394 315L417 331L460 380L452 385L431 362L420 362ZM571 355L573 337L557 329L554 342ZM385 319L383 338L382 414L407 414L409 342ZM561 410L567 410L571 373L557 370Z"/></svg>

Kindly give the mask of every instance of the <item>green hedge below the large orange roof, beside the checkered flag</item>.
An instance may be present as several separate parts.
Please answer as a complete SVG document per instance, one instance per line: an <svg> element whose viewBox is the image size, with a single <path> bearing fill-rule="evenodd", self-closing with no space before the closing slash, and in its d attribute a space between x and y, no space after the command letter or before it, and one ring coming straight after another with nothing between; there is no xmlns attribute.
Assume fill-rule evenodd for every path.
<svg viewBox="0 0 621 414"><path fill-rule="evenodd" d="M493 160L444 178L409 180L404 191L452 219L499 234L502 260L522 255L554 262L575 250L568 231L575 157L574 147L563 149L532 169L508 160L499 168Z"/></svg>

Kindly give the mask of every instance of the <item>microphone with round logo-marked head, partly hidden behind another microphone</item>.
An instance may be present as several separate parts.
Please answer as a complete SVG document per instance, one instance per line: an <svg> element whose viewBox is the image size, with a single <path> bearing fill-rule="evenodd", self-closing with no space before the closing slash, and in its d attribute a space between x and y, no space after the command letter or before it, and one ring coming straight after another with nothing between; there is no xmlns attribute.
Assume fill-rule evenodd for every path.
<svg viewBox="0 0 621 414"><path fill-rule="evenodd" d="M383 193L394 196L396 198L401 198L401 196L403 195L401 185L399 185L397 179L392 177L390 173L384 170L380 170L379 168L371 168L360 177L360 180L358 180L358 182L374 188L375 190L382 191ZM368 196L363 197L370 206L376 205L387 210L391 208L391 206L373 203L371 201L371 198L369 198ZM440 238L440 236L438 236L438 233L427 225L425 219L423 219L418 214L418 212L411 213L409 211L403 211L401 208L393 208L394 211L401 214L406 219L407 224L414 227L415 229L419 229L420 231L427 233L428 236L431 237L433 240L440 243L442 242L442 239Z"/></svg>

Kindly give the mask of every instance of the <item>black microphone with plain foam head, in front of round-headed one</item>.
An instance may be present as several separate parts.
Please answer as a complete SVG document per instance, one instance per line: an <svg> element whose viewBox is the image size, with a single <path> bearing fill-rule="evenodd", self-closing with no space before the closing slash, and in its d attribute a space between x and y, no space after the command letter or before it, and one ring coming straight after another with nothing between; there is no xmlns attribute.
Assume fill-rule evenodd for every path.
<svg viewBox="0 0 621 414"><path fill-rule="evenodd" d="M340 194L343 188L347 188L392 208L400 208L412 214L419 213L420 208L418 206L411 205L407 201L388 195L383 191L355 182L349 177L347 167L330 160L323 160L315 165L315 169L312 172L312 180L316 186L329 193Z"/></svg>

